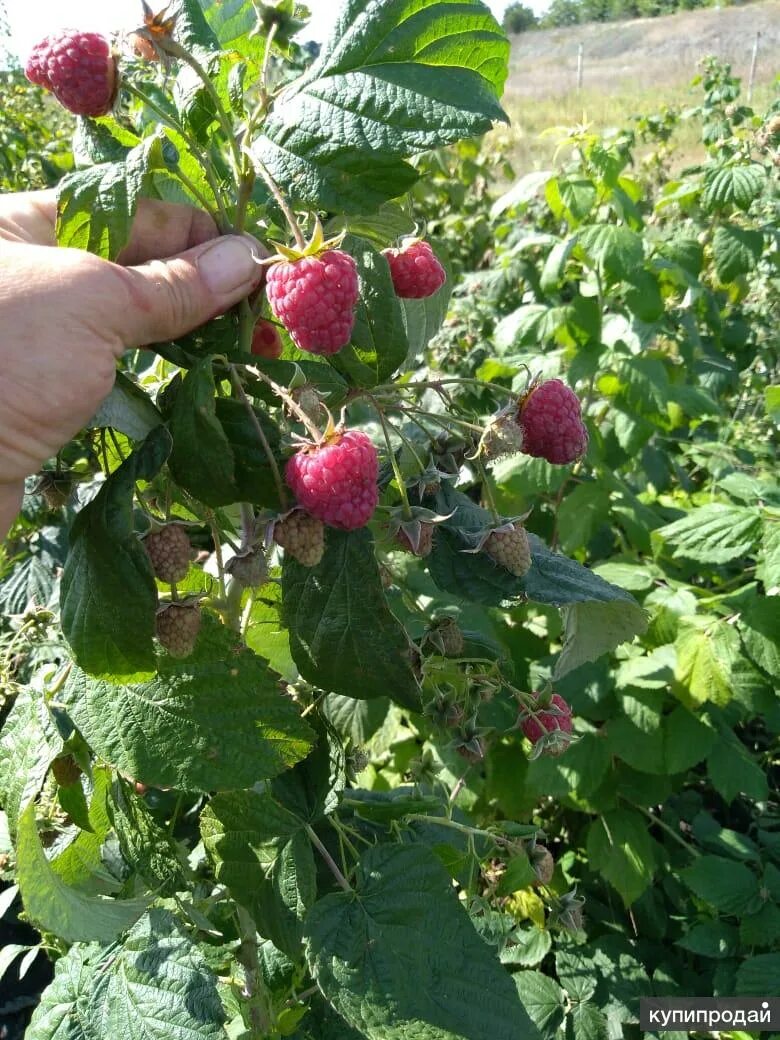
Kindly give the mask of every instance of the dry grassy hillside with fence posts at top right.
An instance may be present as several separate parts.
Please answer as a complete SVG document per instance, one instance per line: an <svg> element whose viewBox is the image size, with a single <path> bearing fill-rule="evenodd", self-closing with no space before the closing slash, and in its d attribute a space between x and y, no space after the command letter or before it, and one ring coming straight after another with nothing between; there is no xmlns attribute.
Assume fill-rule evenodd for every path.
<svg viewBox="0 0 780 1040"><path fill-rule="evenodd" d="M665 105L687 107L701 95L690 83L707 54L729 61L747 88L756 32L761 33L753 104L761 109L780 73L780 0L682 11L656 19L596 23L513 36L504 102L512 116L509 147L519 170L547 165L556 148L553 126L625 125ZM583 83L577 89L577 50ZM680 161L696 157L698 129L676 132Z"/></svg>

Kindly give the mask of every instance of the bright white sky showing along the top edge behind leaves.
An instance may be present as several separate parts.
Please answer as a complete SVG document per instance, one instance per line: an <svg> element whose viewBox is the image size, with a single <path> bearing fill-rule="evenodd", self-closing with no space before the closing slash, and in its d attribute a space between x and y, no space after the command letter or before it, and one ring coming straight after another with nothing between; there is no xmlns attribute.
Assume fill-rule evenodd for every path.
<svg viewBox="0 0 780 1040"><path fill-rule="evenodd" d="M500 17L509 0L487 0ZM525 0L529 6L544 10L548 0ZM0 0L5 6L11 31L11 49L17 56L26 58L30 48L50 29L77 26L84 29L133 28L140 20L139 0ZM150 0L157 10L164 0ZM312 10L312 36L321 36L333 18L334 0L309 0Z"/></svg>

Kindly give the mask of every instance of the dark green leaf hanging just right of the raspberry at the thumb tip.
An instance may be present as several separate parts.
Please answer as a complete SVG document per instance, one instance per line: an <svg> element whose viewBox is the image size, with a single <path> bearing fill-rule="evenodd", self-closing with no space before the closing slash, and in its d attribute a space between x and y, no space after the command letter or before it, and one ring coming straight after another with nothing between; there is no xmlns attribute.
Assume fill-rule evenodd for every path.
<svg viewBox="0 0 780 1040"><path fill-rule="evenodd" d="M342 249L358 265L360 300L349 345L330 363L355 385L373 387L392 375L409 353L404 314L382 254L356 235L347 235Z"/></svg>

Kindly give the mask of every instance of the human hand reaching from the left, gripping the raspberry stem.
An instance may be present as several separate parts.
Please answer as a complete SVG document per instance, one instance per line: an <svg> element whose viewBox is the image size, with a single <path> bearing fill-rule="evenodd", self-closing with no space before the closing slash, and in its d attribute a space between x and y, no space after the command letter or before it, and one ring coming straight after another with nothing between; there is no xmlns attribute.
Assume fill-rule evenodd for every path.
<svg viewBox="0 0 780 1040"><path fill-rule="evenodd" d="M0 197L0 536L24 478L95 414L128 347L181 336L262 280L249 237L142 200L118 263L57 249L53 191ZM164 259L160 259L164 258Z"/></svg>

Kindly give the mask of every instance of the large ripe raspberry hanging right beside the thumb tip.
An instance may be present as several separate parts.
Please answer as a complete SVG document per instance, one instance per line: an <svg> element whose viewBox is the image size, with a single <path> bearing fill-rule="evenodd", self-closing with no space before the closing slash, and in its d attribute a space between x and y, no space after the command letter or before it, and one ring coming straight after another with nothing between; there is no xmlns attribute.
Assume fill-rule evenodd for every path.
<svg viewBox="0 0 780 1040"><path fill-rule="evenodd" d="M281 261L268 270L268 303L293 342L310 354L336 354L355 324L358 267L341 250Z"/></svg>

